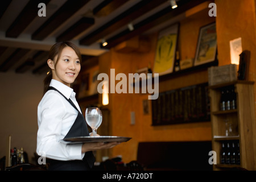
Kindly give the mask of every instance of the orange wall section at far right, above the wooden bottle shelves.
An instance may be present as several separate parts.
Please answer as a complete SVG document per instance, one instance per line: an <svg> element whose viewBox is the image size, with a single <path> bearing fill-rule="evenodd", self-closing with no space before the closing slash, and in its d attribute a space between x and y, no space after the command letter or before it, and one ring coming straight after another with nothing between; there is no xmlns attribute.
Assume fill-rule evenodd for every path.
<svg viewBox="0 0 256 182"><path fill-rule="evenodd" d="M229 41L242 38L242 49L251 52L249 80L256 81L256 15L255 0L216 0L217 42L220 65L230 64ZM256 108L256 84L254 100ZM256 112L255 112L256 118Z"/></svg>

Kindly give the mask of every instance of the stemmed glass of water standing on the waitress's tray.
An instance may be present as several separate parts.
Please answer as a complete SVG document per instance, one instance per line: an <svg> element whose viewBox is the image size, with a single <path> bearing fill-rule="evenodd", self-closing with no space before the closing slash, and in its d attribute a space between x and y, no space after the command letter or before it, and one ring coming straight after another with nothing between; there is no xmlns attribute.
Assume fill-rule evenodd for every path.
<svg viewBox="0 0 256 182"><path fill-rule="evenodd" d="M85 120L92 129L93 136L97 135L97 126L101 122L101 111L98 107L88 107L85 110Z"/></svg>

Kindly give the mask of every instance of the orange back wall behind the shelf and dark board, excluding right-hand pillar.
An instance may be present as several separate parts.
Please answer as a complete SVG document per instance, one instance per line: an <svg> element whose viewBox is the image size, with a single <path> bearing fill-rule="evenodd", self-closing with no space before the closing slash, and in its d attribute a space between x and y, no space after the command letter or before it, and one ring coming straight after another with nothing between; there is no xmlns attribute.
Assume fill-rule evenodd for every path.
<svg viewBox="0 0 256 182"><path fill-rule="evenodd" d="M205 12L203 12L205 13ZM200 13L201 15L202 13ZM199 29L205 24L214 22L214 18L198 19L192 15L180 22L179 50L181 59L193 57L196 52L197 36ZM170 26L170 25L166 25ZM189 30L189 31L188 31ZM195 36L196 35L196 36ZM109 64L117 73L135 73L136 68L147 67L148 63L154 65L155 49L158 34L149 36L150 51L147 53L119 53L110 50ZM188 46L189 45L189 46ZM184 49L183 49L184 47ZM105 60L106 61L106 60ZM188 85L200 84L208 81L207 71L177 76L173 79L159 83L159 92L181 88ZM117 84L119 81L115 81ZM129 142L122 143L112 150L112 155L122 155L124 162L137 159L137 147L143 141L177 141L177 140L211 140L212 133L210 122L186 123L180 125L151 126L151 101L150 113L143 114L143 100L147 94L110 94L110 110L112 117L112 135L132 137ZM130 124L130 113L135 111L135 125Z"/></svg>

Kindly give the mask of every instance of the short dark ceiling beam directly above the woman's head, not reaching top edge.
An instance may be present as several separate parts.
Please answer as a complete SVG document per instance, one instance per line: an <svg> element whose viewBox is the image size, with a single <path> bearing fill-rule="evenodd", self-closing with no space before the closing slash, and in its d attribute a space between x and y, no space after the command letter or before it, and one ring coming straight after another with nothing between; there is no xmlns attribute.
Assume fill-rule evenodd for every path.
<svg viewBox="0 0 256 182"><path fill-rule="evenodd" d="M56 42L71 40L75 38L75 36L83 32L84 30L92 26L93 24L94 24L94 18L83 17L78 22L73 24L73 26L69 27L68 30L66 30L60 36L58 36L56 38Z"/></svg>

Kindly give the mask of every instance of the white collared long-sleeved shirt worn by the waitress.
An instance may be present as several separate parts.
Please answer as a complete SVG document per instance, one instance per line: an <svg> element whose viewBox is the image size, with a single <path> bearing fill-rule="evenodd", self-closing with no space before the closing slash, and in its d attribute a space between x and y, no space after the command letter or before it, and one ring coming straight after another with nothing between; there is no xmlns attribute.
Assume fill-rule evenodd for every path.
<svg viewBox="0 0 256 182"><path fill-rule="evenodd" d="M51 80L50 86L59 90L76 105L76 93L72 88L57 80ZM36 152L46 158L56 160L81 160L82 144L64 144L60 140L67 135L76 120L78 111L56 90L48 90L38 105L38 137Z"/></svg>

